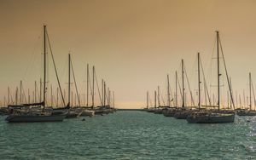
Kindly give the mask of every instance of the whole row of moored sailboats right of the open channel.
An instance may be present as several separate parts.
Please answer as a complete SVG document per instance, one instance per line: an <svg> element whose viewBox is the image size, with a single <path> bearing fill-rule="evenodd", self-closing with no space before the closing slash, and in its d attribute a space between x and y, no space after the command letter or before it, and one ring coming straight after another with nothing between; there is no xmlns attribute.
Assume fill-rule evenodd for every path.
<svg viewBox="0 0 256 160"><path fill-rule="evenodd" d="M250 83L250 108L249 109L241 109L241 108L236 108L234 105L234 99L233 99L233 93L232 93L232 87L231 87L231 81L226 69L226 64L224 60L224 54L223 54L223 49L222 45L220 43L220 37L218 31L216 31L216 36L217 36L217 82L218 82L218 101L217 105L202 105L201 104L201 71L204 76L204 72L202 70L202 65L201 65L201 57L200 53L197 54L197 70L198 70L198 105L194 105L194 100L191 98L191 101L193 102L191 106L186 106L185 105L185 89L184 89L184 64L182 60L182 87L180 87L180 84L178 83L177 79L177 71L176 71L176 96L175 100L174 98L170 98L170 84L169 84L169 76L167 75L167 82L168 82L168 87L167 87L167 96L168 96L168 105L167 106L160 106L160 94L159 94L159 87L158 87L158 94L156 95L156 91L154 91L154 107L149 108L148 107L148 92L147 92L147 107L144 109L145 111L148 112L154 112L155 114L163 114L166 117L175 117L177 119L186 119L188 123L233 123L235 120L235 115L239 116L256 116L256 111L253 111L252 109L252 100L251 100L251 92L252 92L252 79L251 79L251 73L249 74L249 83ZM220 51L222 54L222 59L224 62L224 71L225 71L225 76L227 77L227 82L228 82L228 88L229 88L229 94L230 94L230 107L228 108L221 108L220 106L220 77L222 74L220 73ZM205 81L205 78L203 78L204 81L204 87L207 87L207 83ZM178 85L177 85L178 84ZM177 86L179 86L180 93L182 96L182 105L177 106ZM208 95L207 89L205 89L207 93L206 97L208 97L209 104L211 104L211 100ZM189 93L191 94L191 90L189 89ZM254 94L254 92L253 92ZM158 96L158 101L159 101L159 106L156 106L156 101L157 101L157 96ZM192 95L191 95L192 97ZM171 106L171 101L175 101L174 105ZM206 100L207 101L207 100Z"/></svg>

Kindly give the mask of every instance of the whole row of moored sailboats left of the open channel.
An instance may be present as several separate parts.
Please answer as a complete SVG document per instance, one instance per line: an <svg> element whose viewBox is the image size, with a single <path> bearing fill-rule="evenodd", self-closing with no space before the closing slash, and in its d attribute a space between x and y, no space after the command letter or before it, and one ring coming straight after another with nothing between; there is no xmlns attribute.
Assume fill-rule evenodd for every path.
<svg viewBox="0 0 256 160"><path fill-rule="evenodd" d="M114 109L114 102L110 102L110 91L107 93L106 89L106 83L102 80L102 97L101 99L101 105L95 106L95 67L93 66L93 84L92 84L92 91L91 91L91 97L92 97L92 104L89 106L88 99L89 99L89 66L87 65L87 103L86 105L81 105L79 100L79 93L77 89L77 84L74 77L73 72L73 64L71 60L70 54L68 54L68 100L67 103L65 101L65 98L62 94L62 89L59 81L59 77L56 71L55 67L55 74L57 77L58 85L59 85L59 91L61 92L61 100L62 100L62 107L55 107L55 106L49 106L46 104L46 93L47 93L47 50L49 49L50 55L53 60L53 65L55 67L55 60L53 59L53 54L51 50L51 46L49 43L49 36L48 32L46 30L46 26L44 26L44 82L43 82L43 100L41 100L41 86L40 86L40 99L39 102L34 103L22 103L21 98L21 92L22 88L20 85L20 104L17 104L17 100L15 104L9 104L8 107L3 107L0 110L1 114L6 114L8 117L6 117L6 121L9 123L31 123L31 122L61 122L64 118L73 118L73 117L80 117L80 116L88 116L88 117L94 117L95 115L103 115L108 113L113 113L115 111ZM73 72L73 80L76 87L76 93L77 93L77 99L79 101L79 105L72 106L71 105L71 72ZM21 83L20 83L21 84ZM40 83L41 85L41 83ZM91 86L90 86L91 87ZM100 90L100 89L98 89ZM35 93L36 94L36 91ZM100 93L99 93L100 94ZM101 96L101 94L100 94ZM35 95L35 97L37 97ZM16 98L17 99L17 98ZM114 94L113 94L114 99Z"/></svg>

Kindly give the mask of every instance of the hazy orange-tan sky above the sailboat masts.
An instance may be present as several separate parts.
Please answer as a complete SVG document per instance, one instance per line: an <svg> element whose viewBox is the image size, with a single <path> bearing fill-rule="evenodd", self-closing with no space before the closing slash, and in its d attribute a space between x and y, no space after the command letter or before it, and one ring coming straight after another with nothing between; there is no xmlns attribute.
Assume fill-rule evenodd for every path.
<svg viewBox="0 0 256 160"><path fill-rule="evenodd" d="M14 92L22 79L32 89L40 77L43 24L63 88L71 52L80 94L89 63L115 91L116 106L145 106L147 90L151 99L157 85L164 94L167 73L174 89L181 59L194 92L196 53L201 52L207 72L215 30L234 91L242 94L249 71L256 81L255 7L254 0L0 0L1 100L8 86ZM49 70L54 71L51 65ZM55 83L53 75L49 83Z"/></svg>

